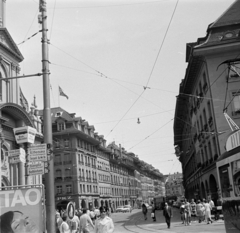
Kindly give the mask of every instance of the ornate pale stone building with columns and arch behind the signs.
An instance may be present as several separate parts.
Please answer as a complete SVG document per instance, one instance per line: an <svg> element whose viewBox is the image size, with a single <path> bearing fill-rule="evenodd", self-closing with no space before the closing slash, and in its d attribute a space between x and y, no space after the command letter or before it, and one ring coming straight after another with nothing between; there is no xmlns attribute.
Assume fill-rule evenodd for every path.
<svg viewBox="0 0 240 233"><path fill-rule="evenodd" d="M29 105L24 97L19 79L19 63L23 55L6 28L6 1L0 0L0 187L25 184L41 184L41 175L26 176L25 163L9 164L8 152L24 147L17 144L13 129L29 126L37 130L34 143L41 143L41 120L34 103Z"/></svg>

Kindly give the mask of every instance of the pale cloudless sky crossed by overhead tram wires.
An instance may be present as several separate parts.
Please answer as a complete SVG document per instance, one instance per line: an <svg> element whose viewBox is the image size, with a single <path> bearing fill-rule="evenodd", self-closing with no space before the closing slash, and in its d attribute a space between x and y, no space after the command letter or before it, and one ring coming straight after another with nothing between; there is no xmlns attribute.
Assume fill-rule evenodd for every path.
<svg viewBox="0 0 240 233"><path fill-rule="evenodd" d="M51 107L76 113L107 144L121 144L163 174L182 172L173 123L186 44L204 37L234 0L46 2ZM19 75L41 73L38 1L7 0L6 10L24 57ZM36 96L43 109L42 77L20 85L29 104ZM59 97L59 86L68 99Z"/></svg>

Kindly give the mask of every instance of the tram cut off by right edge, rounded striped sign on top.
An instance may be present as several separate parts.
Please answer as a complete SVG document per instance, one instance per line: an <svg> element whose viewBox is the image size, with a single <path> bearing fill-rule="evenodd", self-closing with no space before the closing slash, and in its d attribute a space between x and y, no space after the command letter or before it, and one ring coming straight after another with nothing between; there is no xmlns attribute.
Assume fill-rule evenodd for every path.
<svg viewBox="0 0 240 233"><path fill-rule="evenodd" d="M226 143L227 152L217 161L219 200L226 232L240 231L240 131L233 132Z"/></svg>

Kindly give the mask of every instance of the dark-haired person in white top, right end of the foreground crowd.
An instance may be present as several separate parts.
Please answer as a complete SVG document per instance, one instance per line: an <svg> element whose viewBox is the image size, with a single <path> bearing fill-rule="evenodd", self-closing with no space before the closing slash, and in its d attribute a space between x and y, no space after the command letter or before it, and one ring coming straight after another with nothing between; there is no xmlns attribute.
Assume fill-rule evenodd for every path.
<svg viewBox="0 0 240 233"><path fill-rule="evenodd" d="M114 225L110 217L107 216L107 208L100 207L100 218L96 220L94 233L113 233Z"/></svg>

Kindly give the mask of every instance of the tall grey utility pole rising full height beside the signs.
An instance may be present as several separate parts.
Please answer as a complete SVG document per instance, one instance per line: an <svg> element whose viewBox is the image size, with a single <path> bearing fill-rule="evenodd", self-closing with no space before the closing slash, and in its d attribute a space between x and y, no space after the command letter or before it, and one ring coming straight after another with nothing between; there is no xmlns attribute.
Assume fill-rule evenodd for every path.
<svg viewBox="0 0 240 233"><path fill-rule="evenodd" d="M39 0L39 23L42 24L42 73L43 73L43 133L44 142L52 145L52 121L50 108L50 82L49 82L49 60L47 39L47 6L46 0ZM54 197L54 172L53 160L49 160L48 173L45 174L46 186L46 225L47 232L54 233L55 230L55 197Z"/></svg>

